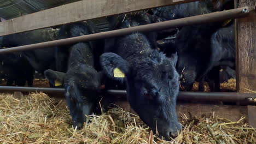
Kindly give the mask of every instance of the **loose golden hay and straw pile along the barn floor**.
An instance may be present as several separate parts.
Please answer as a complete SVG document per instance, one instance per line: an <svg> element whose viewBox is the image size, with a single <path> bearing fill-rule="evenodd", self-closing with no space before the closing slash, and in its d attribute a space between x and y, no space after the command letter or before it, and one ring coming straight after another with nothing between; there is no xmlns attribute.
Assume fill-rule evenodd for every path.
<svg viewBox="0 0 256 144"><path fill-rule="evenodd" d="M244 119L192 118L182 115L183 132L172 142L150 135L149 128L120 108L90 116L82 130L72 128L65 105L48 95L30 94L24 99L0 95L1 143L256 143L256 130Z"/></svg>

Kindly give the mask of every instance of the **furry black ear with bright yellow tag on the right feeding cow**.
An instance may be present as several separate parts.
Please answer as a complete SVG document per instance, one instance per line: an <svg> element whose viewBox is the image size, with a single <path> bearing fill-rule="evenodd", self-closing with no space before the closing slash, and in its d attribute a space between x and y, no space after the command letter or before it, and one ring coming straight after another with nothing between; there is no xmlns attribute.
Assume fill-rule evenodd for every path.
<svg viewBox="0 0 256 144"><path fill-rule="evenodd" d="M115 53L103 53L100 62L104 73L111 79L123 81L130 75L130 64Z"/></svg>

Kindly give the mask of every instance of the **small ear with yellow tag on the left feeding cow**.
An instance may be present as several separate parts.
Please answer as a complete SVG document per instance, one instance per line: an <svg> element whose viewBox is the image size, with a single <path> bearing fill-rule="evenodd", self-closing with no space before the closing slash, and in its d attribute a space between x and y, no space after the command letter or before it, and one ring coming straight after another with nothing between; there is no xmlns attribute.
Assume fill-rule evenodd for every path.
<svg viewBox="0 0 256 144"><path fill-rule="evenodd" d="M44 71L44 76L49 80L51 85L57 87L62 86L65 73L48 69Z"/></svg>

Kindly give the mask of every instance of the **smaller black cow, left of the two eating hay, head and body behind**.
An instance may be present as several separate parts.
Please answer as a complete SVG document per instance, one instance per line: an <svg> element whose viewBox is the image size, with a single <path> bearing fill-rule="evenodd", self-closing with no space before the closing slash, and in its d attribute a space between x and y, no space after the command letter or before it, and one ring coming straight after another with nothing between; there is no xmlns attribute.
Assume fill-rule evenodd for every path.
<svg viewBox="0 0 256 144"><path fill-rule="evenodd" d="M65 33L65 37L73 37L91 34L90 29L88 23L79 22L62 26L60 32L71 34L66 35ZM97 52L96 48L98 47L91 42L81 42L69 45L66 48L67 51L70 51L68 62L66 64L61 63L63 67L62 65L59 66L64 69L67 67L67 72L46 70L44 74L52 85L56 85L57 82L62 83L65 87L65 97L73 119L73 125L80 129L85 122L88 122L86 115L92 114L100 92L101 73L98 73L94 66L94 53Z"/></svg>

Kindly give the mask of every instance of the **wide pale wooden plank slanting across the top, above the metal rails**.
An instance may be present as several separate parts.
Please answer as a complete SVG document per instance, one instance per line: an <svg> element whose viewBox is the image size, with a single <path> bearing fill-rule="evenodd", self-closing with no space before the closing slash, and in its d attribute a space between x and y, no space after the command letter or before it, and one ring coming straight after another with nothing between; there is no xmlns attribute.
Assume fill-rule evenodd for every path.
<svg viewBox="0 0 256 144"><path fill-rule="evenodd" d="M198 0L84 0L0 22L0 36Z"/></svg>

